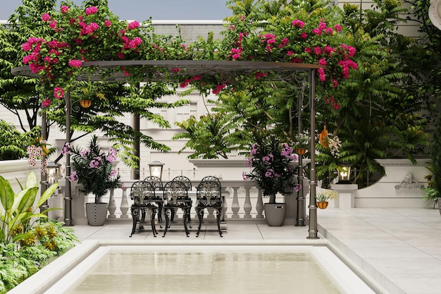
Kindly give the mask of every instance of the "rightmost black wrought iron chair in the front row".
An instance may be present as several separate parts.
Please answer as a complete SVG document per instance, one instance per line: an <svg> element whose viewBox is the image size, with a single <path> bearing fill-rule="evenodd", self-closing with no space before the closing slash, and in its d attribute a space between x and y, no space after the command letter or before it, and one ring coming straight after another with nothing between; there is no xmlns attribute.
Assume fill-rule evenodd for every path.
<svg viewBox="0 0 441 294"><path fill-rule="evenodd" d="M204 209L213 208L216 211L216 222L218 224L219 235L222 237L221 231L221 215L223 212L221 181L215 176L206 176L202 178L197 186L197 206L195 207L199 218L199 227L196 236L201 231L202 221L204 219Z"/></svg>

